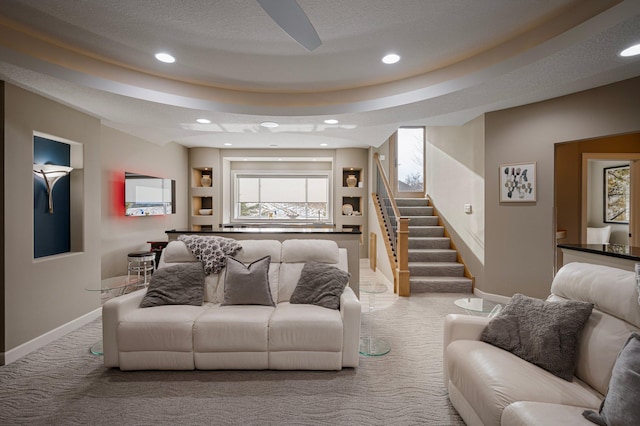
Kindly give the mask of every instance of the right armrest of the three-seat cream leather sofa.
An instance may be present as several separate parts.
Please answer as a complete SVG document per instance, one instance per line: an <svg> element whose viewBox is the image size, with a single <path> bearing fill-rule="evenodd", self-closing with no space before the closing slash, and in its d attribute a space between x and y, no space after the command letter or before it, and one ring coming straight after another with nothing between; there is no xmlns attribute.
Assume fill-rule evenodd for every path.
<svg viewBox="0 0 640 426"><path fill-rule="evenodd" d="M360 301L351 287L340 296L342 317L342 366L357 367L360 361Z"/></svg>

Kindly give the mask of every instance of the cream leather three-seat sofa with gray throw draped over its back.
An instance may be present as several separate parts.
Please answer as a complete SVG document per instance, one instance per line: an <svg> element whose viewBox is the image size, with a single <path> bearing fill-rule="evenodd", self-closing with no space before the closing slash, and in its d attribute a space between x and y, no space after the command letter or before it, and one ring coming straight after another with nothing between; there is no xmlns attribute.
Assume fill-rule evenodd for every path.
<svg viewBox="0 0 640 426"><path fill-rule="evenodd" d="M183 244L170 243L159 268L195 260L165 256L174 243ZM275 307L220 306L224 269L206 277L202 306L140 308L146 290L111 299L102 310L104 365L121 370L357 367L361 308L351 288L342 293L339 310L289 303L305 262L328 263L346 271L346 250L326 240L241 244L234 257L243 263L271 256L269 284Z"/></svg>

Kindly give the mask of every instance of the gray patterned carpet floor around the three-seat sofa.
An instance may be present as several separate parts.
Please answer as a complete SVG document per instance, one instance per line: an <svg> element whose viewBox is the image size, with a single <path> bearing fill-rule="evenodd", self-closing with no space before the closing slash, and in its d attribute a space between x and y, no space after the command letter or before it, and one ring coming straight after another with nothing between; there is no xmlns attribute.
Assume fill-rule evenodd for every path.
<svg viewBox="0 0 640 426"><path fill-rule="evenodd" d="M0 367L0 424L462 425L442 384L443 318L460 297L417 294L377 310L391 352L338 372L106 369L88 351L97 320Z"/></svg>

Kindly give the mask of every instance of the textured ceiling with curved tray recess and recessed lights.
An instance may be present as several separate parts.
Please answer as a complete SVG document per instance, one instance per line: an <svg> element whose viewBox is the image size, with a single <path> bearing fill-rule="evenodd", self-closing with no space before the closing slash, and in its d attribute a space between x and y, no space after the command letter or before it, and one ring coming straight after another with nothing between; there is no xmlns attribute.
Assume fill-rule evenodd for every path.
<svg viewBox="0 0 640 426"><path fill-rule="evenodd" d="M3 0L0 78L159 144L336 148L640 75L617 56L640 42L638 0L298 3L313 52L254 0Z"/></svg>

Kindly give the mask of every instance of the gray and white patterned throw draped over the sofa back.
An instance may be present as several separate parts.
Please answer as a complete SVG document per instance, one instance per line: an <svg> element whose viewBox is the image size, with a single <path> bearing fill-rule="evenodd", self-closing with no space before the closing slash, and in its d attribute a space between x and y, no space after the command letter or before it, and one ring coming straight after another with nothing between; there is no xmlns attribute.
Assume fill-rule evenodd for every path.
<svg viewBox="0 0 640 426"><path fill-rule="evenodd" d="M236 240L224 237L180 235L178 240L184 242L202 262L206 275L220 272L224 268L227 256L233 256L242 248Z"/></svg>

